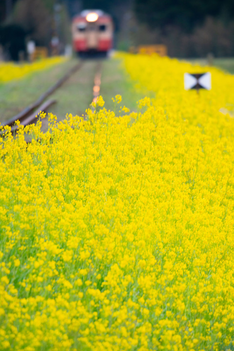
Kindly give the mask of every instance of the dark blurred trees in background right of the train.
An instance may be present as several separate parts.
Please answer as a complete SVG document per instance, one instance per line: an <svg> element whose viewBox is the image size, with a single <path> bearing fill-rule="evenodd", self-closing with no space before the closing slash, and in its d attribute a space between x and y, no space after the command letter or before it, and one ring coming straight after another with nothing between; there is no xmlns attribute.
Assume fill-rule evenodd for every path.
<svg viewBox="0 0 234 351"><path fill-rule="evenodd" d="M233 0L135 0L134 15L137 43L163 43L175 57L234 56Z"/></svg>

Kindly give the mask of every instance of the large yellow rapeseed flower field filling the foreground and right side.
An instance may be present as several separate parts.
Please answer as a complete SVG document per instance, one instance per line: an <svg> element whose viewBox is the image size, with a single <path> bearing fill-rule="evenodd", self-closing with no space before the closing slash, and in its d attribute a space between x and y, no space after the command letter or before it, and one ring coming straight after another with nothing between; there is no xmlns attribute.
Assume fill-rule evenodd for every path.
<svg viewBox="0 0 234 351"><path fill-rule="evenodd" d="M0 350L234 348L234 77L121 59L137 112L2 128Z"/></svg>

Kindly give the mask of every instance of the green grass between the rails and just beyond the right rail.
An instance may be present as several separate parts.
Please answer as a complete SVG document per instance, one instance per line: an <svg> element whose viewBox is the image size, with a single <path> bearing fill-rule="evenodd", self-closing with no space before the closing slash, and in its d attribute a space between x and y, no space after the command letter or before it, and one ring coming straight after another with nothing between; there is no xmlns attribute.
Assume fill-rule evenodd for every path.
<svg viewBox="0 0 234 351"><path fill-rule="evenodd" d="M64 119L66 114L70 113L74 116L85 115L85 110L93 99L94 76L98 62L99 60L95 59L85 60L82 69L55 92L53 98L58 99L59 103L52 106L50 111L57 116L58 120ZM137 100L144 98L142 93L135 91L118 59L103 59L101 60L100 95L105 101L107 110L114 109L112 98L117 94L123 98L120 105L125 105L130 110L137 110Z"/></svg>

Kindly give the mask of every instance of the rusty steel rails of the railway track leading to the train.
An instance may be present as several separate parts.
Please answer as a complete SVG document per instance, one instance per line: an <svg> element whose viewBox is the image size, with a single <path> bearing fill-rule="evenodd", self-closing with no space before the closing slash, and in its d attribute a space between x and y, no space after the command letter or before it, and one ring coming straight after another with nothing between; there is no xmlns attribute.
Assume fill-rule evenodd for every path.
<svg viewBox="0 0 234 351"><path fill-rule="evenodd" d="M44 92L36 101L23 109L19 114L10 118L6 122L4 122L3 126L10 126L11 132L15 133L18 129L16 125L16 121L20 120L20 124L26 126L28 124L35 123L37 120L37 115L39 115L40 111L46 112L50 106L57 103L56 99L47 99L49 96L53 95L53 93L59 89L63 83L65 83L73 74L77 73L82 69L85 61L81 61L72 67L62 78L60 78L54 85L52 85L46 92ZM101 83L101 62L98 61L95 68L95 76L94 76L94 86L93 86L93 101L97 101L99 92L100 92L100 83ZM47 99L47 100L46 100Z"/></svg>

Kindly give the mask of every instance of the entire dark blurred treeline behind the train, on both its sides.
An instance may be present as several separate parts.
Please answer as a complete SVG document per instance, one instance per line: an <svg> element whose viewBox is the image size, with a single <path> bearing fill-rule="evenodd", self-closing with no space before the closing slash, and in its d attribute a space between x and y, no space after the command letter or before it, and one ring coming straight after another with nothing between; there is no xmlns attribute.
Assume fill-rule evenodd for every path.
<svg viewBox="0 0 234 351"><path fill-rule="evenodd" d="M0 44L17 59L28 40L59 52L71 43L71 19L102 9L115 22L115 47L165 44L172 57L234 56L234 0L0 0Z"/></svg>

